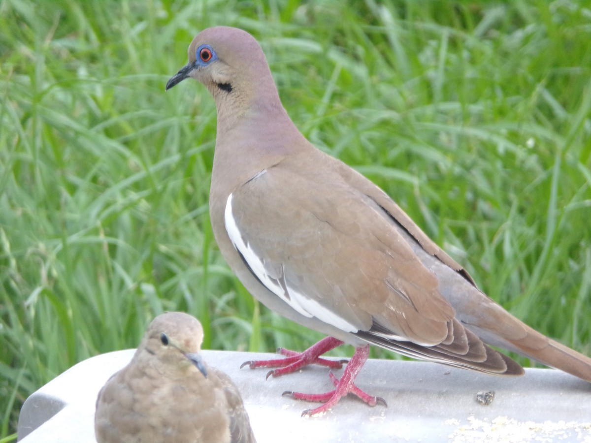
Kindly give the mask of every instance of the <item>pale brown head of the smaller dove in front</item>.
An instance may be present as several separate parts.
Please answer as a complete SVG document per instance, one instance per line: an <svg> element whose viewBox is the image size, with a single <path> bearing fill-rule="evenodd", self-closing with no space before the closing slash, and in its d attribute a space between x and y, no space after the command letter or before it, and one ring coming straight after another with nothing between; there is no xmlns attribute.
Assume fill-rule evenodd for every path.
<svg viewBox="0 0 591 443"><path fill-rule="evenodd" d="M165 312L148 326L138 357L163 372L185 373L194 366L207 377L200 355L202 342L203 327L199 320L184 312Z"/></svg>

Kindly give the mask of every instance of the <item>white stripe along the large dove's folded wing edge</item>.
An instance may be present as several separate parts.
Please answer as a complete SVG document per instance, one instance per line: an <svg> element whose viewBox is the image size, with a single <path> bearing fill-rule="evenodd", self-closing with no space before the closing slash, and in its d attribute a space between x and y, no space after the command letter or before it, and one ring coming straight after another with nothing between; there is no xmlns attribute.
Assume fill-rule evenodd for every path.
<svg viewBox="0 0 591 443"><path fill-rule="evenodd" d="M232 214L232 194L226 201L226 210L224 211L224 224L226 226L226 232L230 237L232 245L236 250L242 254L242 257L248 263L251 271L254 272L256 277L267 286L267 289L273 294L280 297L284 302L290 305L294 310L299 312L304 317L316 317L318 320L333 325L340 330L350 333L356 333L359 329L354 325L350 324L345 319L339 317L335 312L321 305L316 300L307 297L296 289L290 288L284 279L284 276L280 278L274 278L265 269L265 259L256 255L254 250L248 245L248 242L244 239L236 220Z"/></svg>

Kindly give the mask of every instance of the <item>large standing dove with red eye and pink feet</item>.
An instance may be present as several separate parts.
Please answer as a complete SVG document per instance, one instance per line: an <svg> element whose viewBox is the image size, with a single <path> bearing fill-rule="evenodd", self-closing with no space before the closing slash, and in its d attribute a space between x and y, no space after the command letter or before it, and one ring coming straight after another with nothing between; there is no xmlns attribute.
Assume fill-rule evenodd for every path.
<svg viewBox="0 0 591 443"><path fill-rule="evenodd" d="M291 393L329 409L354 385L369 344L489 374L523 369L485 343L591 381L591 359L528 327L476 288L374 183L315 148L281 105L265 56L248 32L202 31L189 63L167 83L193 78L212 93L217 137L210 216L238 278L271 310L329 337L286 359L247 362L293 372L320 354L356 347L335 390Z"/></svg>

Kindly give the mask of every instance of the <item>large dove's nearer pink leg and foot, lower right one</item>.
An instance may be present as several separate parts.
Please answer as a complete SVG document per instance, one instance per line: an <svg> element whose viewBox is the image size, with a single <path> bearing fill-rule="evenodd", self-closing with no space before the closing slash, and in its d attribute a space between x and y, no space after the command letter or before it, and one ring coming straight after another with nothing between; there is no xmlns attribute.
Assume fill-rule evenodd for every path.
<svg viewBox="0 0 591 443"><path fill-rule="evenodd" d="M301 392L291 392L285 391L283 395L289 395L292 398L298 400L307 400L309 402L320 402L324 403L322 406L319 406L316 409L306 409L306 411L301 413L301 416L315 416L320 415L323 412L328 411L330 408L336 405L339 402L340 398L343 396L352 393L362 399L365 403L368 403L369 406L375 406L378 403L381 403L384 406L388 406L386 401L381 397L374 397L365 392L363 392L359 387L355 386L355 377L359 374L359 371L365 364L365 361L368 359L369 356L369 345L366 345L361 348L355 349L355 355L349 361L347 366L345 367L345 372L343 376L340 377L338 380L333 373L331 372L330 380L332 380L333 385L335 385L335 389L329 392L325 392L323 394L304 394Z"/></svg>

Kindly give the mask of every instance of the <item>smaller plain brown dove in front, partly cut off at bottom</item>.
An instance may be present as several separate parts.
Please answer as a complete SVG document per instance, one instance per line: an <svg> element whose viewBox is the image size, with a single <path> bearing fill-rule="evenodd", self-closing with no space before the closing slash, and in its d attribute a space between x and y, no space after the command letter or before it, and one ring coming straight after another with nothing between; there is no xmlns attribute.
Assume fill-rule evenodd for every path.
<svg viewBox="0 0 591 443"><path fill-rule="evenodd" d="M255 443L238 388L206 366L202 341L191 315L158 315L129 364L99 392L97 441Z"/></svg>

